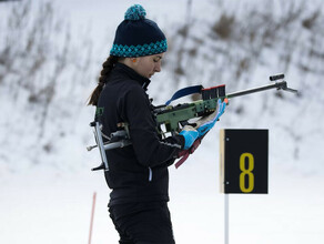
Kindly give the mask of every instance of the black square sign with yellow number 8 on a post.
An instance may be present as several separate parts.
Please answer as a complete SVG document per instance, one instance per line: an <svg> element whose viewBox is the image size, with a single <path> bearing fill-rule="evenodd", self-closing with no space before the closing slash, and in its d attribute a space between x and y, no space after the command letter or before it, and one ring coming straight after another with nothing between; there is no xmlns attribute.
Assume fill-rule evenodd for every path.
<svg viewBox="0 0 324 244"><path fill-rule="evenodd" d="M223 129L220 139L221 192L267 194L269 131Z"/></svg>

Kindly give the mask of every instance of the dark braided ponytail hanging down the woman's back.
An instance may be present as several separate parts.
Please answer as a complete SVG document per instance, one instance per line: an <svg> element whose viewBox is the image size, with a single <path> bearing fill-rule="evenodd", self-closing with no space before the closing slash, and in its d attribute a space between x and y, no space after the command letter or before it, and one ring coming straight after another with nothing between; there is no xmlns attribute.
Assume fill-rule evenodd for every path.
<svg viewBox="0 0 324 244"><path fill-rule="evenodd" d="M109 74L112 71L114 64L118 62L118 57L115 55L110 55L105 62L102 64L102 70L100 72L100 78L98 81L98 85L97 88L93 90L93 92L91 93L90 98L89 98L89 102L88 105L95 105L98 104L98 100L100 96L100 93L104 87L104 84L108 81Z"/></svg>

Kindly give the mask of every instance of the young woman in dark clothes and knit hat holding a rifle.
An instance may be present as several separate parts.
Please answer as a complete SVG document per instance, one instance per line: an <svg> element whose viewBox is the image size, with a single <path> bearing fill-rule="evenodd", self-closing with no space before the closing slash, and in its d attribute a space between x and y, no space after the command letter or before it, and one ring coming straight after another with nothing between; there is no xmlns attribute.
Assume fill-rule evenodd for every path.
<svg viewBox="0 0 324 244"><path fill-rule="evenodd" d="M145 10L139 4L129 8L89 101L102 111L97 119L105 135L115 132L120 122L129 124L132 144L107 151L110 167L104 172L112 190L110 217L120 243L174 243L168 166L200 136L190 128L162 140L156 131L145 91L150 79L161 71L166 48L163 32L145 19Z"/></svg>

